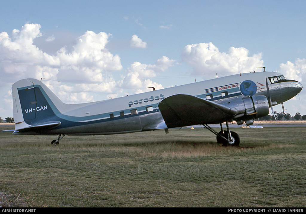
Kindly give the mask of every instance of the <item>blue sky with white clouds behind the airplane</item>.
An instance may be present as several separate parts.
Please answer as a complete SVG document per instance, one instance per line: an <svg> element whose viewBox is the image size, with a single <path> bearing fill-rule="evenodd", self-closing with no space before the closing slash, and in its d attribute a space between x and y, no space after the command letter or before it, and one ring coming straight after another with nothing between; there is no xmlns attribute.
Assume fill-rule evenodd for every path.
<svg viewBox="0 0 306 214"><path fill-rule="evenodd" d="M306 85L306 1L2 1L0 117L12 84L68 104L262 69ZM306 90L284 103L306 114ZM282 112L281 105L274 111Z"/></svg>

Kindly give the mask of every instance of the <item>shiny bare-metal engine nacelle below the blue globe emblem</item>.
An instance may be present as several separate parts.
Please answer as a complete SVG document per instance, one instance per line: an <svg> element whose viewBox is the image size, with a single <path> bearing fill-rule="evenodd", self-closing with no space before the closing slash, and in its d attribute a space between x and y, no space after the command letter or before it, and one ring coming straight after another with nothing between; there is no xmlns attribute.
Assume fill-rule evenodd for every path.
<svg viewBox="0 0 306 214"><path fill-rule="evenodd" d="M238 113L233 117L237 125L252 125L255 118L263 117L269 114L269 102L266 96L248 96L223 103L230 108L235 108Z"/></svg>

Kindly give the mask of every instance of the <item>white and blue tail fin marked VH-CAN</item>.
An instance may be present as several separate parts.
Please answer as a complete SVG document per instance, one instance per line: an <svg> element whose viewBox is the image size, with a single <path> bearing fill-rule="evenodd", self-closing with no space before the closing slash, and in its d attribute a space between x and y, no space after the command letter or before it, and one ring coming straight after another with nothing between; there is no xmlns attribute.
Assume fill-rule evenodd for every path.
<svg viewBox="0 0 306 214"><path fill-rule="evenodd" d="M15 129L45 124L56 118L64 103L41 81L22 79L12 85Z"/></svg>

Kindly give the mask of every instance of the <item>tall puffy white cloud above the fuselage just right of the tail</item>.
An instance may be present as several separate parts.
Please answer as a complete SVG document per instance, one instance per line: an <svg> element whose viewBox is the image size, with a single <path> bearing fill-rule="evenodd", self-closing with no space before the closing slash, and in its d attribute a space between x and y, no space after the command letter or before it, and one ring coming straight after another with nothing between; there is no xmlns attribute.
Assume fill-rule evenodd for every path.
<svg viewBox="0 0 306 214"><path fill-rule="evenodd" d="M58 79L103 82L103 74L121 70L120 57L105 48L108 36L104 32L87 31L77 39L70 53L61 48L57 52L61 62Z"/></svg>

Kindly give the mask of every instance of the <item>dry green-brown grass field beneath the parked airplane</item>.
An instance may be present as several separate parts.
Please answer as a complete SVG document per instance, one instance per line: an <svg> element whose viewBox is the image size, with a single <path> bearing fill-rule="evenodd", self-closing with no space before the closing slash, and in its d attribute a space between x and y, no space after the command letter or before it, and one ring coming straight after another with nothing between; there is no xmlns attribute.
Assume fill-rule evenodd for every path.
<svg viewBox="0 0 306 214"><path fill-rule="evenodd" d="M7 129L7 127L6 127ZM0 133L0 206L305 207L306 127L122 135Z"/></svg>

